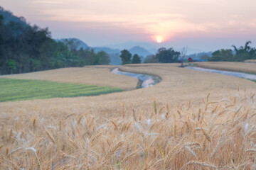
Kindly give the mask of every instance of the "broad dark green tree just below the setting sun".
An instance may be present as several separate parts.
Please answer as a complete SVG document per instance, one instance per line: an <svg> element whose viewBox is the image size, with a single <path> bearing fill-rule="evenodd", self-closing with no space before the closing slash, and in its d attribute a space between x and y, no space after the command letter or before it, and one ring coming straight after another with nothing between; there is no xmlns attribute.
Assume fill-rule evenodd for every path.
<svg viewBox="0 0 256 170"><path fill-rule="evenodd" d="M181 55L180 52L176 52L173 48L166 50L165 47L159 48L156 53L156 58L161 63L178 62L178 57Z"/></svg>

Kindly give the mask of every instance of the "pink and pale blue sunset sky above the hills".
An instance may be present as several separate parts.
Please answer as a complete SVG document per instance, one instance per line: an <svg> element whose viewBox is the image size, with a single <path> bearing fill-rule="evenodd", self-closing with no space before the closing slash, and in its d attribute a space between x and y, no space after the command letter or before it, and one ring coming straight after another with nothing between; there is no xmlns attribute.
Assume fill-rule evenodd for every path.
<svg viewBox="0 0 256 170"><path fill-rule="evenodd" d="M255 0L1 0L53 38L88 45L148 42L203 51L256 46Z"/></svg>

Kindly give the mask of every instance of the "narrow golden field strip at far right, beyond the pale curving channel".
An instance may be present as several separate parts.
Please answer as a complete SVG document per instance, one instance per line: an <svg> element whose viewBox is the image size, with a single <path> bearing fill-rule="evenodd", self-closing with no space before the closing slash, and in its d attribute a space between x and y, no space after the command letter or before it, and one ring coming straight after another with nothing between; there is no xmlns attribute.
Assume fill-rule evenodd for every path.
<svg viewBox="0 0 256 170"><path fill-rule="evenodd" d="M196 62L196 66L206 69L219 69L231 72L256 74L255 64L244 62Z"/></svg>

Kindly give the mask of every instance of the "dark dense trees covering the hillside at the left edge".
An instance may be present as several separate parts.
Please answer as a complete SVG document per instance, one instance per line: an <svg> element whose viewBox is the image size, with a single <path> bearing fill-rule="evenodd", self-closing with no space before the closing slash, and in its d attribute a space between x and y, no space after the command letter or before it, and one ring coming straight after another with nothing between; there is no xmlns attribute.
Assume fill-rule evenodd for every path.
<svg viewBox="0 0 256 170"><path fill-rule="evenodd" d="M106 52L78 49L72 39L56 42L48 28L30 26L23 18L6 21L0 15L0 74L109 63Z"/></svg>

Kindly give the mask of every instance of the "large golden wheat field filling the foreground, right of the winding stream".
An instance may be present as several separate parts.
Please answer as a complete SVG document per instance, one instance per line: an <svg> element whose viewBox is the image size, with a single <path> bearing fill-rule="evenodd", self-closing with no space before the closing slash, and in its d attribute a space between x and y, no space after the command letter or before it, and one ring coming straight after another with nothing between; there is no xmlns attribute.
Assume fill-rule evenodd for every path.
<svg viewBox="0 0 256 170"><path fill-rule="evenodd" d="M146 89L0 103L1 169L255 169L256 83L177 66L121 67L161 77Z"/></svg>

